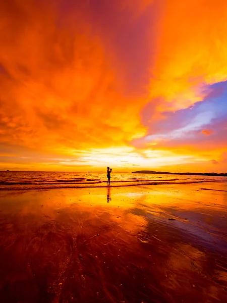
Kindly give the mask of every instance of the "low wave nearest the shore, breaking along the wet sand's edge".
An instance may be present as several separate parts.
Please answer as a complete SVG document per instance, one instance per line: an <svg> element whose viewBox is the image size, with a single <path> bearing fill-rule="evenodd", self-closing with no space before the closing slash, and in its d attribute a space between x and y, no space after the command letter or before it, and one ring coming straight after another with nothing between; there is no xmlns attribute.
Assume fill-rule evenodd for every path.
<svg viewBox="0 0 227 303"><path fill-rule="evenodd" d="M172 179L173 180L173 179ZM178 179L179 180L179 179ZM56 186L53 186L53 183L49 183L49 184L39 184L39 185L45 185L45 186L37 186L38 184L36 184L36 186L30 186L30 187L26 187L26 186L18 186L18 187L0 187L0 190L34 190L34 189L60 189L60 188L99 188L99 187L126 187L126 186L140 186L140 185L171 185L171 184L192 184L192 183L206 183L206 182L227 182L226 180L193 180L193 181L180 181L180 182L173 182L170 180L167 180L165 182L162 181L158 181L158 182L150 182L147 181L145 182L141 182L139 181L139 183L133 183L133 184L121 184L124 181L118 182L120 184L115 184L115 185L94 185L91 186L90 184L97 184L97 183L101 183L101 182L94 182L94 183L74 183L74 184L81 184L81 186L78 185L68 185L66 184L64 186L64 184L56 184ZM15 183L14 183L15 184ZM6 185L6 184L5 184ZM24 184L22 184L24 185Z"/></svg>

